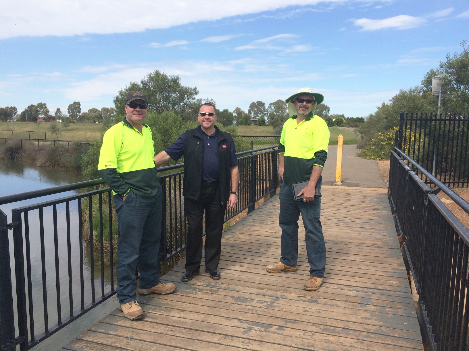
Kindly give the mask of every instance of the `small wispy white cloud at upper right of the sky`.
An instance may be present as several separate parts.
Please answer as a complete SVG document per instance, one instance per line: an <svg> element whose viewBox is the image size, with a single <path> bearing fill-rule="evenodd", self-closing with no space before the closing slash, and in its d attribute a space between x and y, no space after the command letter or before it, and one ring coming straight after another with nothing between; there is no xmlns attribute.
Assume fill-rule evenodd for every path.
<svg viewBox="0 0 469 351"><path fill-rule="evenodd" d="M445 10L439 10L434 13L423 15L423 16L409 16L399 15L394 17L385 18L382 20L371 20L369 18L360 18L354 20L354 25L362 27L361 31L372 31L379 29L411 29L417 28L426 24L428 19L442 19L450 15L454 11L453 7L446 8Z"/></svg>

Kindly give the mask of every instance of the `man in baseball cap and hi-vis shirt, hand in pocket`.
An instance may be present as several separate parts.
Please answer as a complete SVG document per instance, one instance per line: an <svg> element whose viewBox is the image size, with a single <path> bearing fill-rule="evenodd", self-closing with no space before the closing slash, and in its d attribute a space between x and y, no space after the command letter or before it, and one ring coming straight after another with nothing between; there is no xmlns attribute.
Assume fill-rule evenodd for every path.
<svg viewBox="0 0 469 351"><path fill-rule="evenodd" d="M98 171L113 190L119 226L117 298L126 318L144 316L136 301L135 270L140 273L139 294L169 294L174 284L159 280L162 189L153 157L151 129L144 124L148 99L130 91L126 117L107 130L99 154Z"/></svg>

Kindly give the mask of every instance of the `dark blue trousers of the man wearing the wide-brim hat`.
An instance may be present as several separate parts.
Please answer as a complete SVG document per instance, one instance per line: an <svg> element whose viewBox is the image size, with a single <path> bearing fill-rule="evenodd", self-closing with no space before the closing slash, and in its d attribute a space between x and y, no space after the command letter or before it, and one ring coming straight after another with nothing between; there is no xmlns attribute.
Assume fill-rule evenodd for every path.
<svg viewBox="0 0 469 351"><path fill-rule="evenodd" d="M319 186L321 186L319 184ZM300 213L306 236L306 252L310 263L310 275L324 278L325 242L321 221L321 197L314 201L295 201L293 189L285 183L280 188L280 219L282 228L280 262L287 266L296 266L298 260L298 219Z"/></svg>

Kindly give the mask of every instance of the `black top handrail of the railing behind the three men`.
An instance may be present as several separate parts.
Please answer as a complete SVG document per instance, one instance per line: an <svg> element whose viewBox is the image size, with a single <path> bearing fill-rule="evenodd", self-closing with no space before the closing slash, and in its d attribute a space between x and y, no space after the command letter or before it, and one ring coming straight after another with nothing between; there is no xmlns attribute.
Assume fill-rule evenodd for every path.
<svg viewBox="0 0 469 351"><path fill-rule="evenodd" d="M253 152L256 152L256 151L263 151L263 150L273 149L275 147L278 147L278 145L277 146L262 147L260 149L254 149L254 150L249 150L249 151L243 151L243 152L237 153L236 156L241 156L241 155L244 155L244 154L250 154L250 153L253 153ZM170 171L170 170L177 169L177 168L182 168L182 167L184 167L184 164L183 163L178 163L177 165L159 167L159 168L157 168L157 171L158 172L164 172L164 171ZM84 182L78 182L78 183L72 183L72 184L66 184L66 185L59 185L59 186L55 186L55 187L47 188L47 189L26 191L26 192L22 192L22 193L19 193L19 194L2 196L2 197L0 197L0 205L9 204L9 203L16 202L16 201L29 200L29 199L34 198L34 197L42 197L42 196L57 194L57 193L63 192L63 191L86 188L86 187L89 187L89 186L95 186L95 185L99 185L99 184L103 184L103 183L105 183L104 180L102 178L99 178L99 179L93 179L93 180L88 180L88 181L84 181Z"/></svg>

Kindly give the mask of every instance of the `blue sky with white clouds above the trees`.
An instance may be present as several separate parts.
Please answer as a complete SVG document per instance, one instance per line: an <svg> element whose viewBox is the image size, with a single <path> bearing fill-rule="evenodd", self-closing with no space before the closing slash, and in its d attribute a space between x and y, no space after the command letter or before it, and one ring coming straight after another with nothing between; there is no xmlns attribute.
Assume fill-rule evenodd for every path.
<svg viewBox="0 0 469 351"><path fill-rule="evenodd" d="M461 51L469 3L19 0L0 3L0 22L1 107L111 107L130 81L164 70L219 109L310 87L356 117Z"/></svg>

